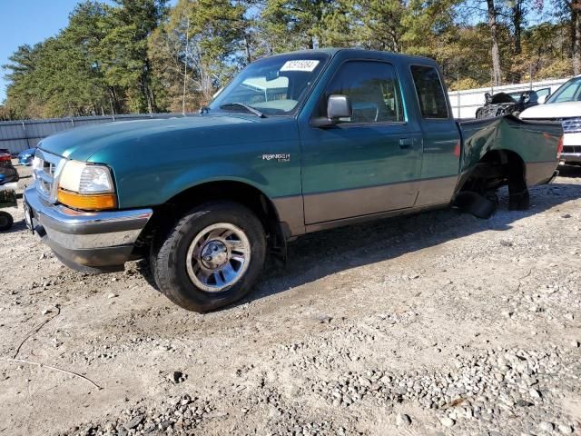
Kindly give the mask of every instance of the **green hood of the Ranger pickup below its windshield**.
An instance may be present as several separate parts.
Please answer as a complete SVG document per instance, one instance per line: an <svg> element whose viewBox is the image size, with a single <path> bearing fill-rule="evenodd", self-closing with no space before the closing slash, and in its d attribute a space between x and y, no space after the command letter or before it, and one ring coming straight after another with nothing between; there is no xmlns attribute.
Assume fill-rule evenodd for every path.
<svg viewBox="0 0 581 436"><path fill-rule="evenodd" d="M257 124L276 122L275 117L261 119L245 114L117 121L76 127L48 136L39 148L76 161L101 162L101 158L113 153L113 150L125 155L139 154L145 150L151 152L152 148L157 149L158 153L172 153L186 147L231 144L233 138L241 144L245 140L256 140L256 136L242 132Z"/></svg>

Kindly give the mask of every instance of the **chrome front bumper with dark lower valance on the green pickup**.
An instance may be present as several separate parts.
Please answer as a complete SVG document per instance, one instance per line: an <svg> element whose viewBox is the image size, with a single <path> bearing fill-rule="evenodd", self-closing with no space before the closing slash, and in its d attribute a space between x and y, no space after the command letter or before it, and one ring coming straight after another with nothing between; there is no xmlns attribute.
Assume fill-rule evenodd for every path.
<svg viewBox="0 0 581 436"><path fill-rule="evenodd" d="M46 203L34 186L25 190L27 225L68 266L121 266L153 214L152 209L79 212Z"/></svg>

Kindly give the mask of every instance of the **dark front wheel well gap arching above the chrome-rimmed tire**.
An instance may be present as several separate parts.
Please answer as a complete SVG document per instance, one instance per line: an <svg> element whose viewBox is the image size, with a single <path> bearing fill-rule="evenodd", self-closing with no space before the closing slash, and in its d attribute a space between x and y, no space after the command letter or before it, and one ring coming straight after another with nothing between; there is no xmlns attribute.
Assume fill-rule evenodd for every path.
<svg viewBox="0 0 581 436"><path fill-rule="evenodd" d="M147 224L138 253L143 252L156 235L166 233L184 213L198 204L216 201L231 201L248 207L261 220L266 232L267 243L274 252L284 253L286 238L279 216L271 200L259 189L247 183L235 181L202 183L173 196L166 203L155 207L153 218ZM143 253L141 253L143 254Z"/></svg>

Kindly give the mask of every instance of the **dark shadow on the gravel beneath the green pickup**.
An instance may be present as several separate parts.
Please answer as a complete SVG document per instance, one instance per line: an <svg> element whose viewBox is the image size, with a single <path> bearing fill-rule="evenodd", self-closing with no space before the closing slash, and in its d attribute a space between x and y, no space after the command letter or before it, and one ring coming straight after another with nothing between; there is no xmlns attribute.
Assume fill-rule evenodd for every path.
<svg viewBox="0 0 581 436"><path fill-rule="evenodd" d="M561 167L564 177L581 177L580 167ZM487 220L454 209L419 213L312 233L289 244L285 266L267 263L256 292L238 304L316 281L350 268L395 259L403 254L487 230L506 231L511 223L581 198L581 183L558 183L531 189L531 208L507 210L507 190L498 193L497 212ZM420 264L410 265L421 268ZM235 303L236 304L236 303Z"/></svg>

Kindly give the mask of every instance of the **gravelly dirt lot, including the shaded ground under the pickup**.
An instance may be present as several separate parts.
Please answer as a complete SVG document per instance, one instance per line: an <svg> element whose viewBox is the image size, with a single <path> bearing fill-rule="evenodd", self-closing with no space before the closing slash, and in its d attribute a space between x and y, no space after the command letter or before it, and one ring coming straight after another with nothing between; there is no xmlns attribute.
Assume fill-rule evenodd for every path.
<svg viewBox="0 0 581 436"><path fill-rule="evenodd" d="M143 263L66 269L14 210L0 436L581 434L581 168L531 194L312 234L203 315Z"/></svg>

